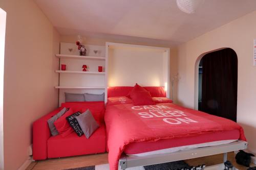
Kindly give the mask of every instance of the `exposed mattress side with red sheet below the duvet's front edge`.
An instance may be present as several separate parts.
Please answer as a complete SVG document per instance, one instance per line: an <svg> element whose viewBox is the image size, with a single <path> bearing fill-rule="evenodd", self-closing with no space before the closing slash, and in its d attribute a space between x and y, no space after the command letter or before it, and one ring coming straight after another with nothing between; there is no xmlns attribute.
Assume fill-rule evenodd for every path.
<svg viewBox="0 0 256 170"><path fill-rule="evenodd" d="M227 144L240 138L240 130L209 132L189 137L159 139L157 141L132 142L126 145L126 155L147 156L172 153L201 147Z"/></svg>

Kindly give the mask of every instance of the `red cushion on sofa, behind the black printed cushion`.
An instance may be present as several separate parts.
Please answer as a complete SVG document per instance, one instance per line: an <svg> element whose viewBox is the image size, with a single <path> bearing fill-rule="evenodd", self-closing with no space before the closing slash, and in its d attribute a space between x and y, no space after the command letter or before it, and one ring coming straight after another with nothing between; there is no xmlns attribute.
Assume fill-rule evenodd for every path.
<svg viewBox="0 0 256 170"><path fill-rule="evenodd" d="M70 108L65 114L63 114L53 123L55 128L62 137L65 137L74 132L73 128L69 125L68 121L66 120L66 117L70 116L73 113L73 110Z"/></svg>

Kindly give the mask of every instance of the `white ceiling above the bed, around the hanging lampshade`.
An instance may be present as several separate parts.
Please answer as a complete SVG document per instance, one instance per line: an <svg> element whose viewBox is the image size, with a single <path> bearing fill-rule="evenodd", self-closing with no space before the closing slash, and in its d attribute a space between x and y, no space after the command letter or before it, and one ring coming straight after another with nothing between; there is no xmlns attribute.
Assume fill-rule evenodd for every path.
<svg viewBox="0 0 256 170"><path fill-rule="evenodd" d="M179 44L256 10L255 0L205 0L194 14L176 0L34 0L61 35ZM254 19L252 19L254 21Z"/></svg>

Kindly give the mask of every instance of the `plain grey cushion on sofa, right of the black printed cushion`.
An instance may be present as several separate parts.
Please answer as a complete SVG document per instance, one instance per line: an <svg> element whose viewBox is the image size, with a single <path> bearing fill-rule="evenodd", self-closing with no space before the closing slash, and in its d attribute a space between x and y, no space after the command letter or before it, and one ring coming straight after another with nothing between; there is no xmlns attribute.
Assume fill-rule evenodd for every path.
<svg viewBox="0 0 256 170"><path fill-rule="evenodd" d="M80 125L84 135L86 135L86 138L89 138L99 127L89 109L75 118L77 119L77 122Z"/></svg>

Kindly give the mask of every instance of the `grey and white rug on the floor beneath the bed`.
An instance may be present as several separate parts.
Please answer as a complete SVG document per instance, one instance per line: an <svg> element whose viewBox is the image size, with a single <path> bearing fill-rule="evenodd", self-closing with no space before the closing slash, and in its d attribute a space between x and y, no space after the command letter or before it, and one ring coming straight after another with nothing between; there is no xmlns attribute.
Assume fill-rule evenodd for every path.
<svg viewBox="0 0 256 170"><path fill-rule="evenodd" d="M167 162L156 165L148 165L148 166L139 166L127 168L127 170L176 170L178 168L189 167L189 165L184 161L176 161L176 162ZM96 166L87 166L87 167L78 167L72 169L65 170L108 170L109 164L102 164Z"/></svg>

